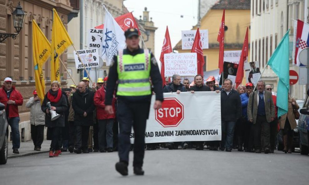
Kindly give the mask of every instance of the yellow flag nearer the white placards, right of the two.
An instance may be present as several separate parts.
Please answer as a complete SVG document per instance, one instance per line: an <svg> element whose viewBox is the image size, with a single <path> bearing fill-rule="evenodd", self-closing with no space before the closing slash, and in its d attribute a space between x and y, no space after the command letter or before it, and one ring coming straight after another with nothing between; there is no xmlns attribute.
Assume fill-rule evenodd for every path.
<svg viewBox="0 0 309 185"><path fill-rule="evenodd" d="M52 51L51 51L51 81L57 80L60 82L59 72L59 56L73 42L64 28L58 13L53 8L53 27L52 27Z"/></svg>

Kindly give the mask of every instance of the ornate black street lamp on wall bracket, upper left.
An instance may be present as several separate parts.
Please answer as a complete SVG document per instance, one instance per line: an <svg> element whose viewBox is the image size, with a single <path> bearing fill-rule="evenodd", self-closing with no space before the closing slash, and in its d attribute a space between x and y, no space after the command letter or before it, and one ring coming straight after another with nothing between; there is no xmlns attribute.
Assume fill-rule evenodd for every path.
<svg viewBox="0 0 309 185"><path fill-rule="evenodd" d="M20 2L18 2L18 5L14 12L12 13L13 15L13 23L14 27L16 29L17 34L14 33L0 33L0 43L3 42L6 38L12 37L13 39L16 39L16 36L20 32L20 30L23 28L23 23L25 21L25 12L22 10L22 7L20 6Z"/></svg>

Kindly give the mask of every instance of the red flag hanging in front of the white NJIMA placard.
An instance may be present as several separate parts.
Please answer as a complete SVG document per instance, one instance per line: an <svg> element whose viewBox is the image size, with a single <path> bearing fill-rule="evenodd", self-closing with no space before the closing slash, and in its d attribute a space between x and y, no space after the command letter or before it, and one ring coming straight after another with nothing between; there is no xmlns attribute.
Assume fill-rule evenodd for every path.
<svg viewBox="0 0 309 185"><path fill-rule="evenodd" d="M203 55L203 44L200 36L200 29L197 28L191 53L197 54L197 74L204 76L203 66L205 64Z"/></svg>

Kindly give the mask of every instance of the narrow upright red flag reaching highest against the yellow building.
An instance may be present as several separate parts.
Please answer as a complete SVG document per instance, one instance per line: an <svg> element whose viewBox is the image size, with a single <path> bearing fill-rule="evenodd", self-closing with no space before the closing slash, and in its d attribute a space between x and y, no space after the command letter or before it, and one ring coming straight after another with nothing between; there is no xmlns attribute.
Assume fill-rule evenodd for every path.
<svg viewBox="0 0 309 185"><path fill-rule="evenodd" d="M223 56L224 56L224 25L225 25L225 10L223 10L222 20L219 28L217 41L219 42L219 74L223 71Z"/></svg>

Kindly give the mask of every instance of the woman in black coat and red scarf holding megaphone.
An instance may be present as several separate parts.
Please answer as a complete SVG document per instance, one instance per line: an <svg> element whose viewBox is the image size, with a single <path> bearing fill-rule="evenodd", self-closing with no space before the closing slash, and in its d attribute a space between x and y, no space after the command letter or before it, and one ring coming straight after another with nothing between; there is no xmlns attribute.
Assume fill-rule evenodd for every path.
<svg viewBox="0 0 309 185"><path fill-rule="evenodd" d="M58 119L51 120L50 110L47 106L48 102L50 102L50 110L54 110L61 115ZM48 127L52 139L49 157L58 157L61 154L61 131L64 127L64 112L68 110L66 97L62 94L58 81L51 83L51 89L46 93L41 108L46 113L45 126Z"/></svg>

